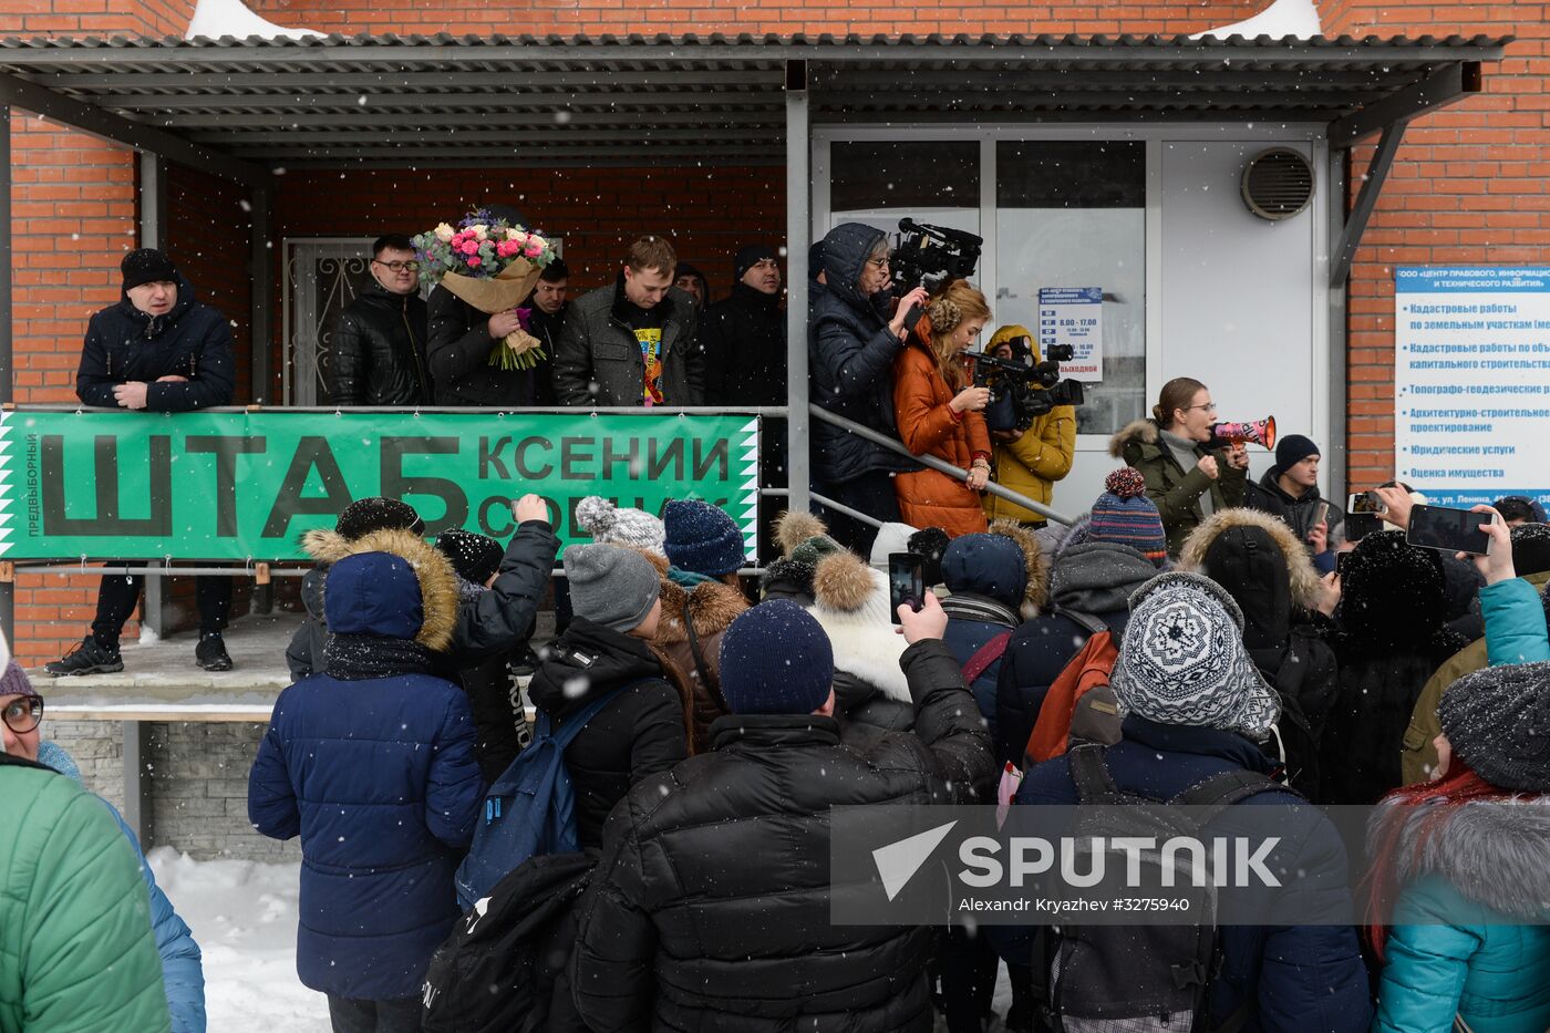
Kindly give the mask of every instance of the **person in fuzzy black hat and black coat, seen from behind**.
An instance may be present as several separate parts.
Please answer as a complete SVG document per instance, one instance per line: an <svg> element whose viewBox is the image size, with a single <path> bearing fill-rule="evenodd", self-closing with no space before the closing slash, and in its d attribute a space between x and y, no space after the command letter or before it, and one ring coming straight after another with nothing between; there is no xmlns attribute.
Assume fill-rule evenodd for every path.
<svg viewBox="0 0 1550 1033"><path fill-rule="evenodd" d="M1321 743L1325 803L1376 803L1400 786L1400 754L1421 689L1466 645L1443 624L1437 552L1397 530L1350 554L1331 645L1339 692Z"/></svg>

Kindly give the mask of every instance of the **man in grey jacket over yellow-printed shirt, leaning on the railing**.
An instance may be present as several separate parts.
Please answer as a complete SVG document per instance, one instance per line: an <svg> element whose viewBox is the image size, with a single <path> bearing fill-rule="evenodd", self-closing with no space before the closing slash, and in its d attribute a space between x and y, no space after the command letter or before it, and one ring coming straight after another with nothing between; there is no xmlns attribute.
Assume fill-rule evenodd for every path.
<svg viewBox="0 0 1550 1033"><path fill-rule="evenodd" d="M676 267L671 244L640 237L614 285L572 302L555 355L561 405L704 405L699 312Z"/></svg>

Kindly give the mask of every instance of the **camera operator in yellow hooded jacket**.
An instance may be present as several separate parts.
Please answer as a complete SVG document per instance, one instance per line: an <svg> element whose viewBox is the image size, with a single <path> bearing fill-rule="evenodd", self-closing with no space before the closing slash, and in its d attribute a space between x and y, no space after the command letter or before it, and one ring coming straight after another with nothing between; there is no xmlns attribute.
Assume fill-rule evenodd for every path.
<svg viewBox="0 0 1550 1033"><path fill-rule="evenodd" d="M1026 364L1038 364L1038 349L1034 335L1025 326L1003 326L986 347L997 358ZM1023 405L1023 391L1043 391L1038 385L1009 385L1000 408L1009 409L1003 419L986 411L994 445L992 467L995 482L1026 495L1035 503L1049 504L1054 482L1071 473L1076 456L1076 406L1057 405L1048 413L1029 417ZM998 423L1001 427L998 428ZM1004 427L1011 423L1011 427ZM984 512L990 520L1015 520L1025 527L1040 529L1045 518L1031 509L1023 509L995 495L986 495Z"/></svg>

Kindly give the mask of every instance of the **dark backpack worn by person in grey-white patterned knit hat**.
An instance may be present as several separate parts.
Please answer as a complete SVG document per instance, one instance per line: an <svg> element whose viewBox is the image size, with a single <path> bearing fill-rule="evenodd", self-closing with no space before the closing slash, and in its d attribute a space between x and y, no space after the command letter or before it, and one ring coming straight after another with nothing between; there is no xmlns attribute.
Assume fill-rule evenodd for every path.
<svg viewBox="0 0 1550 1033"><path fill-rule="evenodd" d="M1071 777L1082 803L1156 803L1121 793L1104 763L1107 748L1087 745L1070 751ZM1071 836L1197 836L1221 810L1260 793L1286 788L1252 771L1224 771L1184 789L1170 805L1201 807L1207 813L1197 822L1173 808L1093 807L1079 817ZM1141 853L1142 869L1159 869L1158 853ZM1121 852L1105 858L1124 865ZM1105 926L1062 923L1051 929L1048 973L1049 1028L1065 1033L1231 1033L1243 1027L1254 1011L1249 997L1226 1022L1209 1022L1211 980L1221 966L1217 940L1217 890L1192 886L1181 870L1172 897L1187 897L1192 924Z"/></svg>

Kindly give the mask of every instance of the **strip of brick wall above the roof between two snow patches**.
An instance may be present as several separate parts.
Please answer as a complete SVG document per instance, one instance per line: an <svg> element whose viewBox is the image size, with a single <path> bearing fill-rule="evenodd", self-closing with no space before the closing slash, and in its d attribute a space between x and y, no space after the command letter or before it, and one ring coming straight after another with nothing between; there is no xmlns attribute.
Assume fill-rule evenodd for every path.
<svg viewBox="0 0 1550 1033"><path fill-rule="evenodd" d="M254 0L281 25L319 33L1198 33L1251 17L1269 0L1201 3L845 5L837 0ZM1116 14L1122 9L1122 14Z"/></svg>

